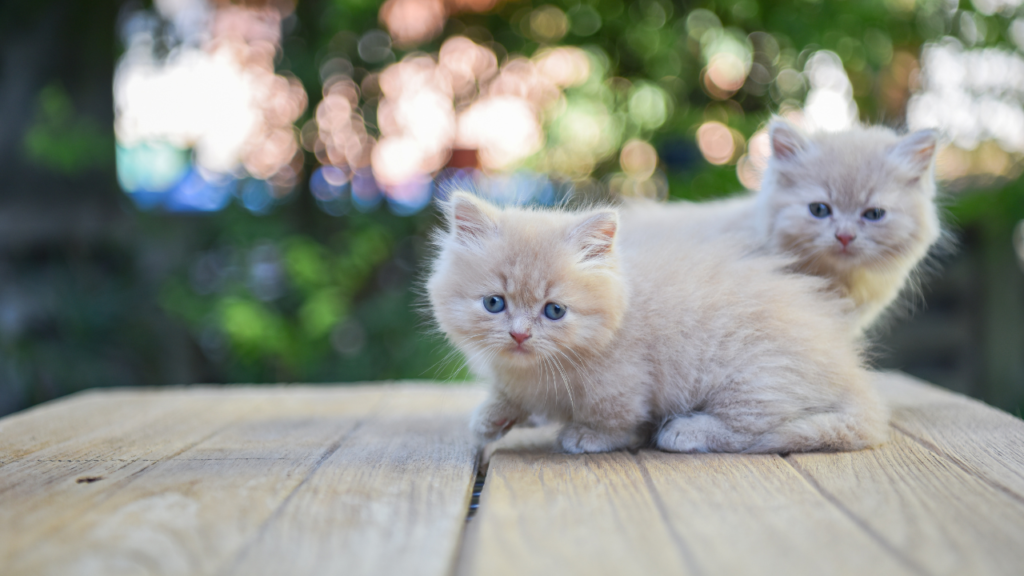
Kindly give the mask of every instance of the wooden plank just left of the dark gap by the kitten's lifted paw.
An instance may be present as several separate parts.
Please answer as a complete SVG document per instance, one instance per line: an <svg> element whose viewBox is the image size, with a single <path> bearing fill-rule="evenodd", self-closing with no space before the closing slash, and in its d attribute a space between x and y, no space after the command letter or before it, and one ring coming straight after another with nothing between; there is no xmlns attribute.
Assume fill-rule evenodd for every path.
<svg viewBox="0 0 1024 576"><path fill-rule="evenodd" d="M309 476L223 573L446 575L453 570L482 392L402 387Z"/></svg>

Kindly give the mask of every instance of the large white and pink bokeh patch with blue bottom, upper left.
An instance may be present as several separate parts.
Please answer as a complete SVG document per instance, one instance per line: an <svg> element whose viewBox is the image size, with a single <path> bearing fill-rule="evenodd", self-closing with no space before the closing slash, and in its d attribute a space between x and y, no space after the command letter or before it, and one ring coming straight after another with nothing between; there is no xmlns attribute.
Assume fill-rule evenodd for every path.
<svg viewBox="0 0 1024 576"><path fill-rule="evenodd" d="M273 180L267 184L271 199L290 193L301 170L293 125L307 99L296 78L274 72L282 8L201 0L156 7L174 22L173 34L158 38L159 19L133 12L125 20L126 50L114 79L125 192L140 206L176 211L223 208L224 190L231 187L202 182L251 176ZM163 55L159 43L173 49Z"/></svg>

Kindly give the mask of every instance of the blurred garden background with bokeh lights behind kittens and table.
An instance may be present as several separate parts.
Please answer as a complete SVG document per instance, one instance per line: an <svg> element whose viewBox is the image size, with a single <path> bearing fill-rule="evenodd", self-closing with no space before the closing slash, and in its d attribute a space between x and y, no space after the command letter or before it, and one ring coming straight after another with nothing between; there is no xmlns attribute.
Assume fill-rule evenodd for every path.
<svg viewBox="0 0 1024 576"><path fill-rule="evenodd" d="M764 125L938 127L955 249L876 364L1024 407L1021 0L6 0L0 414L463 379L432 199L757 189Z"/></svg>

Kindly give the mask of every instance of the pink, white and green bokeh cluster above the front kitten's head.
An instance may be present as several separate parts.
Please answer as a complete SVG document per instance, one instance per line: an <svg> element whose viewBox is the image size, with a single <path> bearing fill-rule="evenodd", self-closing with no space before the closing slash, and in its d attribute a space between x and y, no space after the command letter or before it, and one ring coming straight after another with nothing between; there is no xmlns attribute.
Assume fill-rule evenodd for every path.
<svg viewBox="0 0 1024 576"><path fill-rule="evenodd" d="M478 167L494 178L532 165L587 178L618 151L625 128L607 106L615 96L604 82L606 61L597 48L559 46L529 58L512 54L499 67L492 48L453 36L436 54L414 52L359 85L354 67L331 56L322 67L325 96L315 122L301 130L302 145L346 173L369 166L374 190L400 212L429 203L426 183L445 166ZM627 86L621 106L631 126L649 131L669 120L665 89ZM377 138L368 129L371 114ZM352 186L359 207L354 178Z"/></svg>

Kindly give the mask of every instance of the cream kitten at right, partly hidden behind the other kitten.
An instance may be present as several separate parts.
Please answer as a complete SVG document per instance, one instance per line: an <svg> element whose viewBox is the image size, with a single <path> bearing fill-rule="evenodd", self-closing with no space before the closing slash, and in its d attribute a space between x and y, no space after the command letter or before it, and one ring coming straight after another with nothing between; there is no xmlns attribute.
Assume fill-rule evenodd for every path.
<svg viewBox="0 0 1024 576"><path fill-rule="evenodd" d="M806 136L781 120L769 127L772 157L757 194L705 204L635 205L627 221L715 237L797 257L796 270L825 278L857 305L864 330L896 299L940 238L932 174L933 130L900 137L880 126ZM812 203L831 213L812 215ZM885 210L878 220L864 213ZM846 238L844 245L841 238Z"/></svg>

